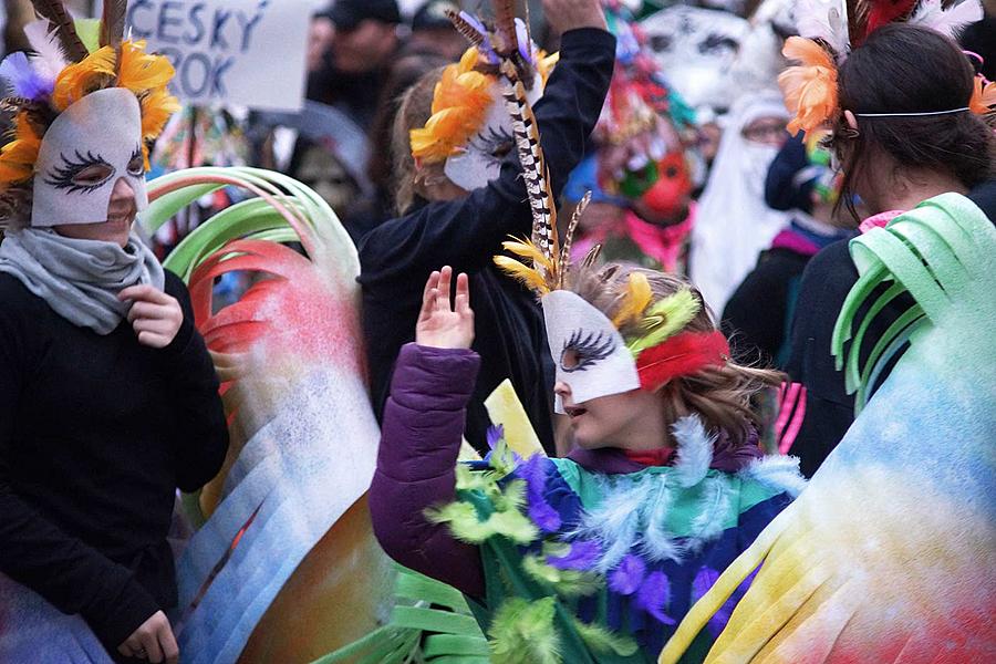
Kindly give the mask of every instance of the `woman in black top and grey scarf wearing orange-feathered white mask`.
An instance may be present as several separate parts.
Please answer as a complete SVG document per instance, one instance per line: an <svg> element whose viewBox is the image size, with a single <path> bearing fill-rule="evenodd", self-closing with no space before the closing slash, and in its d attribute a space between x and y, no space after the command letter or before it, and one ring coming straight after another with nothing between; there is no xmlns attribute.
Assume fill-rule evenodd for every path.
<svg viewBox="0 0 996 664"><path fill-rule="evenodd" d="M91 53L39 3L38 54L0 65L18 108L0 154L3 662L176 661L175 491L228 447L186 288L132 230L173 68L114 34L108 4Z"/></svg>

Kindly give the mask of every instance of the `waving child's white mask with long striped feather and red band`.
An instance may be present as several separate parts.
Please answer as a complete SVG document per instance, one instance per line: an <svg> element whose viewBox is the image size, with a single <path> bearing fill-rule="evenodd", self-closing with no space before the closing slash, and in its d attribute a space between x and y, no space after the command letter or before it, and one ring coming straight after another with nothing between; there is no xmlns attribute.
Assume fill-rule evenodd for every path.
<svg viewBox="0 0 996 664"><path fill-rule="evenodd" d="M505 249L518 259L496 256L495 263L539 295L557 380L571 386L575 403L584 403L632 390L655 391L673 378L724 365L729 346L720 332L685 331L702 310L689 288L655 298L643 272L631 273L623 287L610 284L609 276L600 274L595 279L604 288L622 289L611 320L574 292L577 274L591 273L598 256L595 247L580 266L569 264L574 230L591 195L574 210L561 246L536 118L515 68L506 64L501 73L532 211L532 235L505 242ZM562 412L559 400L557 406Z"/></svg>

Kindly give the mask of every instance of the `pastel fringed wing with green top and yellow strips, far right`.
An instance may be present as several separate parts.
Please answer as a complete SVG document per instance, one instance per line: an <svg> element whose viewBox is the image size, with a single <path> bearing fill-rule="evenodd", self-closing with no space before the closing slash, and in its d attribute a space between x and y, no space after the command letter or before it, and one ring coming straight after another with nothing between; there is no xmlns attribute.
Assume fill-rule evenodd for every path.
<svg viewBox="0 0 996 664"><path fill-rule="evenodd" d="M861 277L833 351L853 338L848 381L864 407L661 662L676 662L758 566L708 662L996 661L996 229L944 194L857 238L851 255ZM901 293L912 305L862 367L854 346Z"/></svg>

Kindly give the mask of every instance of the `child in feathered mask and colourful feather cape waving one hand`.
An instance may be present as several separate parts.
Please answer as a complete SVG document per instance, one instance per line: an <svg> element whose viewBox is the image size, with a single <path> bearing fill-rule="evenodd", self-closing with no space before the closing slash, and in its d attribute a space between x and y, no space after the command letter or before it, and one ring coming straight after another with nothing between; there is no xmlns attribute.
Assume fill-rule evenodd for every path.
<svg viewBox="0 0 996 664"><path fill-rule="evenodd" d="M654 661L801 488L795 460L761 457L748 406L780 374L732 362L678 278L616 264L563 273L546 261L501 262L541 294L575 449L520 458L497 429L489 461L476 464L484 473L457 466L480 360L467 277L454 308L444 268L394 373L374 530L396 560L474 598L495 662Z"/></svg>

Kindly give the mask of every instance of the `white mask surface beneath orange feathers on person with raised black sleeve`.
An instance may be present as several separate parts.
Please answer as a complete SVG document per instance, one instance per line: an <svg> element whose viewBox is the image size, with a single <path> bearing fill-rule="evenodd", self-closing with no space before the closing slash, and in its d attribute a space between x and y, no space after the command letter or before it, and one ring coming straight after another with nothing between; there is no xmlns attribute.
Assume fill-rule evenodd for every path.
<svg viewBox="0 0 996 664"><path fill-rule="evenodd" d="M446 159L443 172L453 184L461 189L473 191L486 186L498 177L501 172L501 162L509 151L516 148L512 134L511 116L501 96L505 83L496 81L491 84L491 106L481 124L481 128L464 146L464 152ZM526 97L532 105L543 95L543 85L537 75L532 90L527 91Z"/></svg>

